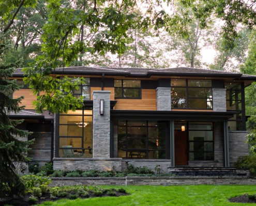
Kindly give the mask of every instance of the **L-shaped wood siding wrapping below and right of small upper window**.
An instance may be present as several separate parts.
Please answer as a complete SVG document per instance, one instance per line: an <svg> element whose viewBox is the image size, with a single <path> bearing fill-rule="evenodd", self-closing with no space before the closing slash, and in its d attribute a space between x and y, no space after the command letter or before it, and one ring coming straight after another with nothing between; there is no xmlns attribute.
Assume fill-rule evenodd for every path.
<svg viewBox="0 0 256 206"><path fill-rule="evenodd" d="M115 99L116 110L156 110L156 90L143 89L141 99Z"/></svg>

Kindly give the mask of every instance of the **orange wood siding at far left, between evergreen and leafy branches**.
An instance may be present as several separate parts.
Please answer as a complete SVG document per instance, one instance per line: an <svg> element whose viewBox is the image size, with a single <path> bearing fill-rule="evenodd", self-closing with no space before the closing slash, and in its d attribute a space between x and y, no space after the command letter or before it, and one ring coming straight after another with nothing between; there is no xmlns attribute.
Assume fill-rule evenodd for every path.
<svg viewBox="0 0 256 206"><path fill-rule="evenodd" d="M25 105L25 109L35 109L35 106L33 105L33 101L37 99L37 96L33 94L32 90L19 90L15 91L13 93L13 99L16 99L20 96L24 96L24 99L22 99L22 102L20 106Z"/></svg>

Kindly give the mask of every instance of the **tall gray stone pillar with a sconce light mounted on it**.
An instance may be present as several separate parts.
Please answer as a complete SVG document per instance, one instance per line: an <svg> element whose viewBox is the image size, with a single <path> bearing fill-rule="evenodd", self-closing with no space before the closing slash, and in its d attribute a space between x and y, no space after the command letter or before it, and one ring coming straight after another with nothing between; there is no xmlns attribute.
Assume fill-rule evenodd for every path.
<svg viewBox="0 0 256 206"><path fill-rule="evenodd" d="M100 99L104 100L103 115ZM93 158L110 158L110 91L93 92Z"/></svg>

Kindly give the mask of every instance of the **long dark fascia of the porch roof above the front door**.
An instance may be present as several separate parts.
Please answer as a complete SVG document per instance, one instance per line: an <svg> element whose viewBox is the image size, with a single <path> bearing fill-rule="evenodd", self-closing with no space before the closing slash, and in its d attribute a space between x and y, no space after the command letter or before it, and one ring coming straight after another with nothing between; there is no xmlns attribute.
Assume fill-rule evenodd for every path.
<svg viewBox="0 0 256 206"><path fill-rule="evenodd" d="M232 118L236 112L206 111L147 111L147 110L111 110L113 119L162 119L174 121L214 122Z"/></svg>

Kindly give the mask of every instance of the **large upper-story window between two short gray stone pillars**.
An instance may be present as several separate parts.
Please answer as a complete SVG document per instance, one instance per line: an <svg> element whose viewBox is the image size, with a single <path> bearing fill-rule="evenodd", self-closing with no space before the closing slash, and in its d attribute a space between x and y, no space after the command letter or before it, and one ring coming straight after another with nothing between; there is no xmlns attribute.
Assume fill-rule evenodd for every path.
<svg viewBox="0 0 256 206"><path fill-rule="evenodd" d="M212 109L212 81L171 79L171 99L173 109Z"/></svg>

